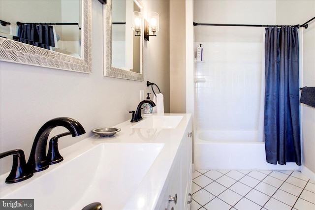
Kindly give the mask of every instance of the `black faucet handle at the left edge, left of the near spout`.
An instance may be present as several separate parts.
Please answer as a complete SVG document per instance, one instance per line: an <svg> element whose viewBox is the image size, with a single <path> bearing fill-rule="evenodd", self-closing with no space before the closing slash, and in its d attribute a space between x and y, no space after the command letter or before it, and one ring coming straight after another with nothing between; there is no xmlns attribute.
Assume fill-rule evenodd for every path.
<svg viewBox="0 0 315 210"><path fill-rule="evenodd" d="M2 152L0 158L13 155L13 164L9 176L5 179L5 183L16 183L27 180L33 176L32 171L28 168L23 150L9 150Z"/></svg>

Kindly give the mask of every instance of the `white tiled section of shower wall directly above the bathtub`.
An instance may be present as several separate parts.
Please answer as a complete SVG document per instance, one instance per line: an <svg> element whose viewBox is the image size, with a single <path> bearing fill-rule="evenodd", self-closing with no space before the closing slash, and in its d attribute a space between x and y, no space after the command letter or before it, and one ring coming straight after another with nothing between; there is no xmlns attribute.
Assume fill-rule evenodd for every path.
<svg viewBox="0 0 315 210"><path fill-rule="evenodd" d="M195 62L195 117L198 129L257 130L262 43L202 43ZM199 42L195 42L195 48Z"/></svg>

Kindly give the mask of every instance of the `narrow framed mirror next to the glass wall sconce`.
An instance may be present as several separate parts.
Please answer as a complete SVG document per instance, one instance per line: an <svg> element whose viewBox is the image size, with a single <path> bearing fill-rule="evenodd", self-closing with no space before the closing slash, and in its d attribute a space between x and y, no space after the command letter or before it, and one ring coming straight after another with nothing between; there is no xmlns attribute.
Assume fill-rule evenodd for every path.
<svg viewBox="0 0 315 210"><path fill-rule="evenodd" d="M141 33L132 28L134 12L141 12L142 4L138 0L109 0L105 11L104 28L106 43L106 69L104 75L130 80L143 81L142 47L143 27Z"/></svg>

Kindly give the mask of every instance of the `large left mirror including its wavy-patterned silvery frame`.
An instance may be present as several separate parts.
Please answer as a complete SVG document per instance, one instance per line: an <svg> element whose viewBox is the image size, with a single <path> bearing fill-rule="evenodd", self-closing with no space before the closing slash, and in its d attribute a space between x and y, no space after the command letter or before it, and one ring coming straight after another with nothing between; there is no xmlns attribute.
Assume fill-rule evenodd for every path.
<svg viewBox="0 0 315 210"><path fill-rule="evenodd" d="M0 26L0 60L92 71L91 0L1 0L0 4L1 21L10 23Z"/></svg>

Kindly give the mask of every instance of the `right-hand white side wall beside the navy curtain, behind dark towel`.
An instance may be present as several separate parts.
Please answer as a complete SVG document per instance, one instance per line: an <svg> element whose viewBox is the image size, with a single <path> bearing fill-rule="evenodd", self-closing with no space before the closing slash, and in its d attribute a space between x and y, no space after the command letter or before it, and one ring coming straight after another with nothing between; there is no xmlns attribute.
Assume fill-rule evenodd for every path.
<svg viewBox="0 0 315 210"><path fill-rule="evenodd" d="M294 14L294 15L292 15ZM277 1L278 24L304 24L315 16L315 0ZM301 30L301 29L300 29ZM315 86L315 21L303 30L302 84L301 87ZM310 178L315 180L315 108L302 104L302 164ZM303 168L302 168L303 170ZM311 177L312 176L312 177Z"/></svg>

